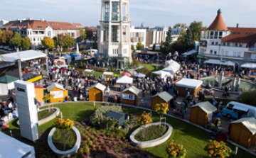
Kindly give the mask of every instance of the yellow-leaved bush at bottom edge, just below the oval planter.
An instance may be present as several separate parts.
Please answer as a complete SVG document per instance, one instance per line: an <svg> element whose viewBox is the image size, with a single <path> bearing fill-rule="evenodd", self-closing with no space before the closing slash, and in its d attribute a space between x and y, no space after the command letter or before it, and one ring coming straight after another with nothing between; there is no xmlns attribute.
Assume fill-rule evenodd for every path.
<svg viewBox="0 0 256 158"><path fill-rule="evenodd" d="M186 157L186 149L183 148L183 145L175 144L174 140L171 140L166 150L169 157Z"/></svg>

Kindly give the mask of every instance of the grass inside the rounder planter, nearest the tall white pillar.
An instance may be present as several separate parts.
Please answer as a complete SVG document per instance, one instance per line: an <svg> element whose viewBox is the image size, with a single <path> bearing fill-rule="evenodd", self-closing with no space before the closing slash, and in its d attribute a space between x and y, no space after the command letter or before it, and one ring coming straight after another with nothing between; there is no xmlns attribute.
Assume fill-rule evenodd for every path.
<svg viewBox="0 0 256 158"><path fill-rule="evenodd" d="M69 150L72 149L76 142L76 135L74 130L70 129L65 135L65 149L63 146L63 137L62 137L63 131L60 129L56 129L53 133L53 144L55 147L59 150Z"/></svg>

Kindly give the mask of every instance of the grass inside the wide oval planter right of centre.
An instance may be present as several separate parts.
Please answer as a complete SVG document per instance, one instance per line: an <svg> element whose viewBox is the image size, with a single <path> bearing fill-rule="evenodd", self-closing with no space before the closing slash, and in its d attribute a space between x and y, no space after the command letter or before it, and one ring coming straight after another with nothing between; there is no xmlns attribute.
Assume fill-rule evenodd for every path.
<svg viewBox="0 0 256 158"><path fill-rule="evenodd" d="M168 128L164 127L164 125L161 125L161 128L159 128L159 125L151 125L146 128L146 132L144 131L144 129L139 130L139 132L137 132L134 138L135 140L138 140L141 142L148 141L148 140L155 140L161 137L162 135L164 135L164 133L166 133L167 130ZM145 137L143 137L144 132L146 133Z"/></svg>

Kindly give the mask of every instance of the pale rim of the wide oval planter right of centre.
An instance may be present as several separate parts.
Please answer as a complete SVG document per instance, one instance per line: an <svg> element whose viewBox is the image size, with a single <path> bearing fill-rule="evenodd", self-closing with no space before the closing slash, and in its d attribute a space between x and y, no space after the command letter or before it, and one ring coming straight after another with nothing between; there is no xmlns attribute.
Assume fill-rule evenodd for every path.
<svg viewBox="0 0 256 158"><path fill-rule="evenodd" d="M148 125L146 125L146 127L149 127L151 125L159 125L159 124L160 124L160 122L149 123ZM161 123L161 124L164 124L164 123ZM172 126L169 123L166 123L166 125L168 126L167 132L155 140L149 140L146 142L140 142L138 140L135 140L134 136L137 134L137 132L139 132L139 130L143 129L142 127L138 128L137 130L134 130L134 132L132 132L132 134L130 135L130 140L132 141L132 144L138 145L139 147L142 147L142 148L155 147L157 145L161 145L161 143L163 143L169 139L169 137L171 136L171 132L173 130Z"/></svg>

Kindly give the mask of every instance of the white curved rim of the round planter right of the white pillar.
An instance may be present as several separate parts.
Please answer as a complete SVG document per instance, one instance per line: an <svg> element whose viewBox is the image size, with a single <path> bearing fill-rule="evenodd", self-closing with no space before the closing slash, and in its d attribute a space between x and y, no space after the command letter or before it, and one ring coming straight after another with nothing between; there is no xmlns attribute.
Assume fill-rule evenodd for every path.
<svg viewBox="0 0 256 158"><path fill-rule="evenodd" d="M73 126L72 129L75 131L75 135L77 137L77 140L75 142L74 147L72 149L69 149L69 150L66 150L66 151L61 151L61 150L59 150L55 147L55 145L53 144L53 132L56 130L56 128L53 128L53 129L50 130L49 135L48 135L48 145L49 145L50 149L52 149L53 152L58 157L70 157L71 155L78 152L78 149L79 149L80 143L81 143L81 135L80 135L80 132L79 132L78 128L75 128L75 126Z"/></svg>

